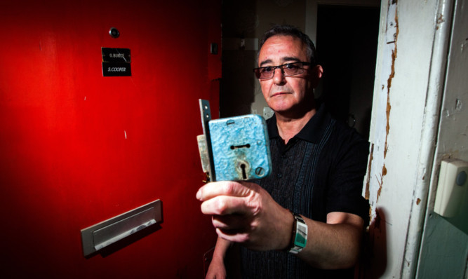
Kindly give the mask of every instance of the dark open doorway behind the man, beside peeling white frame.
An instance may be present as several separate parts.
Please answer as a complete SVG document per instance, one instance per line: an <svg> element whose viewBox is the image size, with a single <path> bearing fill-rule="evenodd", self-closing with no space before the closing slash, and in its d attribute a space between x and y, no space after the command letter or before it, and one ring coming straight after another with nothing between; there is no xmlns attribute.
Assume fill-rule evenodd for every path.
<svg viewBox="0 0 468 279"><path fill-rule="evenodd" d="M317 14L324 74L316 95L335 118L368 138L380 7L319 5Z"/></svg>

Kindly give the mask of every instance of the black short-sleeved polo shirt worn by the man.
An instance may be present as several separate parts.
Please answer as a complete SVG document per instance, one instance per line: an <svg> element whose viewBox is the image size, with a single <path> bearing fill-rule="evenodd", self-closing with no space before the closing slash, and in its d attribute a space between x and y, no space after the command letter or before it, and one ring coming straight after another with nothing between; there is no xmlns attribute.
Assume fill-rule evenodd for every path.
<svg viewBox="0 0 468 279"><path fill-rule="evenodd" d="M257 183L277 203L320 222L329 212L348 212L367 224L369 206L361 193L369 149L356 130L335 121L324 106L288 144L275 117L267 125L273 169ZM352 278L352 270L320 271L286 252L241 248L241 259L243 278Z"/></svg>

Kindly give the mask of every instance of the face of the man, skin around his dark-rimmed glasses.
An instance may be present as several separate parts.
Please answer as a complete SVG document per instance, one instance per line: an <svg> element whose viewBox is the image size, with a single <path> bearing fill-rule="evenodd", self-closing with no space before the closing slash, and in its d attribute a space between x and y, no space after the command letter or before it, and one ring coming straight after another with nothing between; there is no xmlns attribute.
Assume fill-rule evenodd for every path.
<svg viewBox="0 0 468 279"><path fill-rule="evenodd" d="M263 44L258 57L258 67L292 62L309 62L306 46L292 36L270 37ZM260 86L269 107L279 113L288 113L297 107L304 107L305 99L312 97L311 79L309 71L297 76L284 76L281 69L275 69L273 78L260 80Z"/></svg>

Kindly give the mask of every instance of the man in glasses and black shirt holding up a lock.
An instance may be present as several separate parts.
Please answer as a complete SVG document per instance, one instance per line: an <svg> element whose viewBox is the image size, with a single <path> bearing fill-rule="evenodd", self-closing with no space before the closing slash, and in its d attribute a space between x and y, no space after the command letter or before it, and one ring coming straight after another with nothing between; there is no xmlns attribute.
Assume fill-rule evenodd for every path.
<svg viewBox="0 0 468 279"><path fill-rule="evenodd" d="M243 278L352 278L368 219L368 143L316 107L323 69L298 29L267 31L258 65L275 112L267 122L273 170L257 183L213 182L196 193L218 233L207 278L226 276L233 243L241 245Z"/></svg>

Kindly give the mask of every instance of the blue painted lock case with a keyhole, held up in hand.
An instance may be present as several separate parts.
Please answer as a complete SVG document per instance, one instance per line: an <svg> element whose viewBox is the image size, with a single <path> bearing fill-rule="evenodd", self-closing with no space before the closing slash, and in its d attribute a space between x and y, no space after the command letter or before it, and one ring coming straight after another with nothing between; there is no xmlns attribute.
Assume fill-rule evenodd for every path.
<svg viewBox="0 0 468 279"><path fill-rule="evenodd" d="M267 123L248 114L208 122L217 181L267 177L272 170Z"/></svg>

